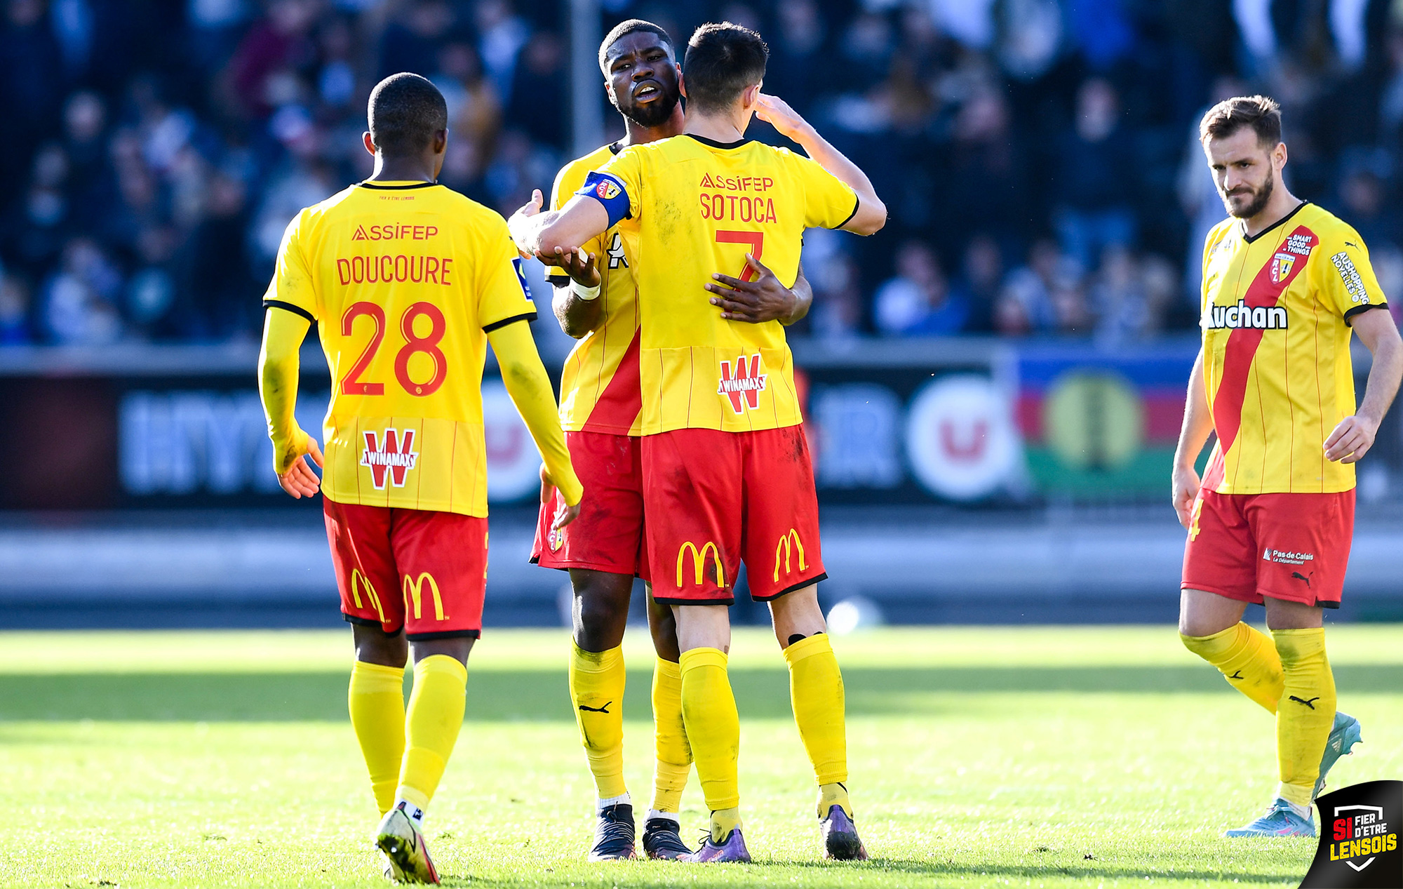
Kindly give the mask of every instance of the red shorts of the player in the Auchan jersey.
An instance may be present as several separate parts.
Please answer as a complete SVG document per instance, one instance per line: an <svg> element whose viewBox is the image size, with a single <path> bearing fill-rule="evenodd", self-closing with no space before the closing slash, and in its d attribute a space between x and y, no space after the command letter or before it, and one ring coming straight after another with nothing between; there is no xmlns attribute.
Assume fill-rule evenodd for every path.
<svg viewBox="0 0 1403 889"><path fill-rule="evenodd" d="M1354 491L1200 491L1180 589L1338 609L1352 537Z"/></svg>

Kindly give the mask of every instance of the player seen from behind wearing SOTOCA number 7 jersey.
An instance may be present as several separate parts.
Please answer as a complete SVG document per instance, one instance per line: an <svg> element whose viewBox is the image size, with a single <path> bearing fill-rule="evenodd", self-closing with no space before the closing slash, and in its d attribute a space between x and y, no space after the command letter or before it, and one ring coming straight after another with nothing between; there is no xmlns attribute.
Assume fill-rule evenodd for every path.
<svg viewBox="0 0 1403 889"><path fill-rule="evenodd" d="M767 49L748 28L709 24L687 43L685 135L620 151L563 209L511 220L516 245L568 255L623 219L638 223L643 474L648 561L673 606L682 712L710 833L689 861L748 861L739 815L739 724L727 676L737 569L769 602L800 736L819 785L825 854L863 858L847 798L843 691L817 583L818 505L781 324L735 324L704 287L717 268L781 282L810 226L870 234L887 219L867 177L784 102L763 95ZM759 114L810 157L748 142ZM812 160L811 160L812 158ZM675 571L673 571L675 569Z"/></svg>

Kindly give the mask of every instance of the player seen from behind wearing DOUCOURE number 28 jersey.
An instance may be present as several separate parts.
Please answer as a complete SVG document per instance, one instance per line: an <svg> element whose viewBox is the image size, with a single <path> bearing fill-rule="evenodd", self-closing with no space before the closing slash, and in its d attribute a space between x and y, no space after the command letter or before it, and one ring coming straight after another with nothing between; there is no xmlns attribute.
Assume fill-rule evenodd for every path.
<svg viewBox="0 0 1403 889"><path fill-rule="evenodd" d="M355 638L348 704L380 812L386 874L438 882L424 810L463 724L467 656L487 579L481 376L488 342L544 456L543 478L579 512L521 259L495 212L436 185L448 108L417 74L370 93L375 174L288 226L264 297L260 391L278 481L323 491L341 611ZM297 351L311 324L331 369L325 457L297 428ZM318 481L307 460L324 466ZM404 666L414 693L404 705Z"/></svg>

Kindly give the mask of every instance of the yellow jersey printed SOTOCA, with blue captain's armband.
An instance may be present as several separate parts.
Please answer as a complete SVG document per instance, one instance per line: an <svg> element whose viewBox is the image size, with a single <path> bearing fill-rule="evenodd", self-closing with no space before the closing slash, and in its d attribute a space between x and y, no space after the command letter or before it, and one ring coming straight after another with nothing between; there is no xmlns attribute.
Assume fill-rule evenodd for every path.
<svg viewBox="0 0 1403 889"><path fill-rule="evenodd" d="M784 325L723 320L703 285L749 279L749 252L794 286L804 229L852 219L853 189L786 149L687 135L624 149L578 194L638 224L643 433L803 422Z"/></svg>

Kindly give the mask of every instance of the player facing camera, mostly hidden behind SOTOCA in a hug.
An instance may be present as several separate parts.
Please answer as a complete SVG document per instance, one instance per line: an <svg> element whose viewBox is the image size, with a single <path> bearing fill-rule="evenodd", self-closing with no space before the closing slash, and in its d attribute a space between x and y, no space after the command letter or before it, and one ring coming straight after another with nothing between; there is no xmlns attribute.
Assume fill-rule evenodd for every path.
<svg viewBox="0 0 1403 889"><path fill-rule="evenodd" d="M678 65L668 34L637 18L620 22L599 46L609 101L623 115L626 136L577 158L556 177L551 209L568 202L591 170L631 144L676 136L683 128ZM537 192L539 195L539 192ZM537 196L539 201L539 196ZM633 858L633 803L623 778L624 625L634 576L648 581L644 545L643 470L638 435L643 395L638 369L638 304L630 264L638 226L623 220L547 266L561 328L579 339L561 373L560 419L589 506L568 529L556 520L565 502L543 489L532 561L570 572L574 644L570 693L579 736L595 778L596 812L591 861ZM793 324L812 299L800 275L790 290L758 259L753 280L718 275L711 303L734 321ZM732 290L734 289L734 290ZM692 752L682 725L682 677L672 614L652 602L648 625L657 660L652 708L657 766L643 847L650 858L690 850L679 836L682 789Z"/></svg>

